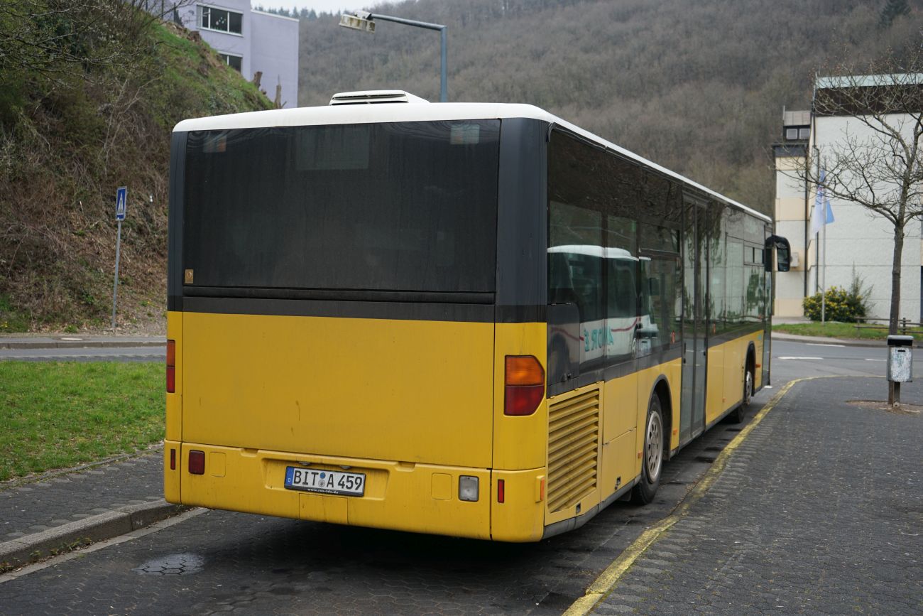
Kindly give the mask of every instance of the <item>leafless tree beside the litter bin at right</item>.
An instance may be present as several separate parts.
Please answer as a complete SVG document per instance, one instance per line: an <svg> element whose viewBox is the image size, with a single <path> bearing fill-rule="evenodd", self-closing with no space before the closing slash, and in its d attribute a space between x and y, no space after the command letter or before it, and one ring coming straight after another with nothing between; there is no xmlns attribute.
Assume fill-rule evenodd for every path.
<svg viewBox="0 0 923 616"><path fill-rule="evenodd" d="M896 333L901 305L901 255L907 226L923 218L923 51L917 43L886 60L835 66L819 78L815 116L849 118L835 143L811 152L797 170L829 198L855 203L893 227L888 332ZM820 161L818 160L820 159ZM893 404L893 383L889 387Z"/></svg>

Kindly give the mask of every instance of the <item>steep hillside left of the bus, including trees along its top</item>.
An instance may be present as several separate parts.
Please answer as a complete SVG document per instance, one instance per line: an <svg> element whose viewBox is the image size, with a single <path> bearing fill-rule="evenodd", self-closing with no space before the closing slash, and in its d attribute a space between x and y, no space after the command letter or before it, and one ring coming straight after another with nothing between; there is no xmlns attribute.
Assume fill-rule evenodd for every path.
<svg viewBox="0 0 923 616"><path fill-rule="evenodd" d="M170 131L271 106L141 4L0 3L0 332L108 324L119 186L119 322L162 331Z"/></svg>

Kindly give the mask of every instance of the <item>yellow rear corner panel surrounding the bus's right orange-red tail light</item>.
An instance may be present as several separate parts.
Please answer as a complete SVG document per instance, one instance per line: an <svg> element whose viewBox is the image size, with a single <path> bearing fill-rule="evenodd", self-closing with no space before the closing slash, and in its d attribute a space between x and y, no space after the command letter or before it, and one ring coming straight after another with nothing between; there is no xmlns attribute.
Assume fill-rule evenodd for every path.
<svg viewBox="0 0 923 616"><path fill-rule="evenodd" d="M493 467L521 470L545 465L548 436L548 408L543 401L532 415L510 417L503 414L504 380L508 355L531 355L545 367L547 347L545 323L497 323L494 345L494 445Z"/></svg>

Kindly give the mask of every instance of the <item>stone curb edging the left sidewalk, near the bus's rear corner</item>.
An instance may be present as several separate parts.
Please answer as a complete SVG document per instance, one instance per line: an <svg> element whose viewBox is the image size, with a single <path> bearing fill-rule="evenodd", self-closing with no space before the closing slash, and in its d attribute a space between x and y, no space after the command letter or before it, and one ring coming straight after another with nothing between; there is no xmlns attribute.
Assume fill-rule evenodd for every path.
<svg viewBox="0 0 923 616"><path fill-rule="evenodd" d="M0 543L0 572L73 550L92 542L111 539L150 526L189 507L167 501L126 505L113 511L68 522L49 530Z"/></svg>

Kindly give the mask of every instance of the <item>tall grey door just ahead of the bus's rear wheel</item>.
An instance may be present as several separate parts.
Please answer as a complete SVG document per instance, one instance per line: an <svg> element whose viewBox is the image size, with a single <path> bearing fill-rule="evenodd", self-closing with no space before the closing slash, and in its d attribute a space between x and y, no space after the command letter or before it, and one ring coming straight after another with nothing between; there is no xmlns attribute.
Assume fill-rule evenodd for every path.
<svg viewBox="0 0 923 616"><path fill-rule="evenodd" d="M683 371L679 402L679 441L705 429L705 370L708 361L705 323L707 216L705 203L684 199L683 205Z"/></svg>

